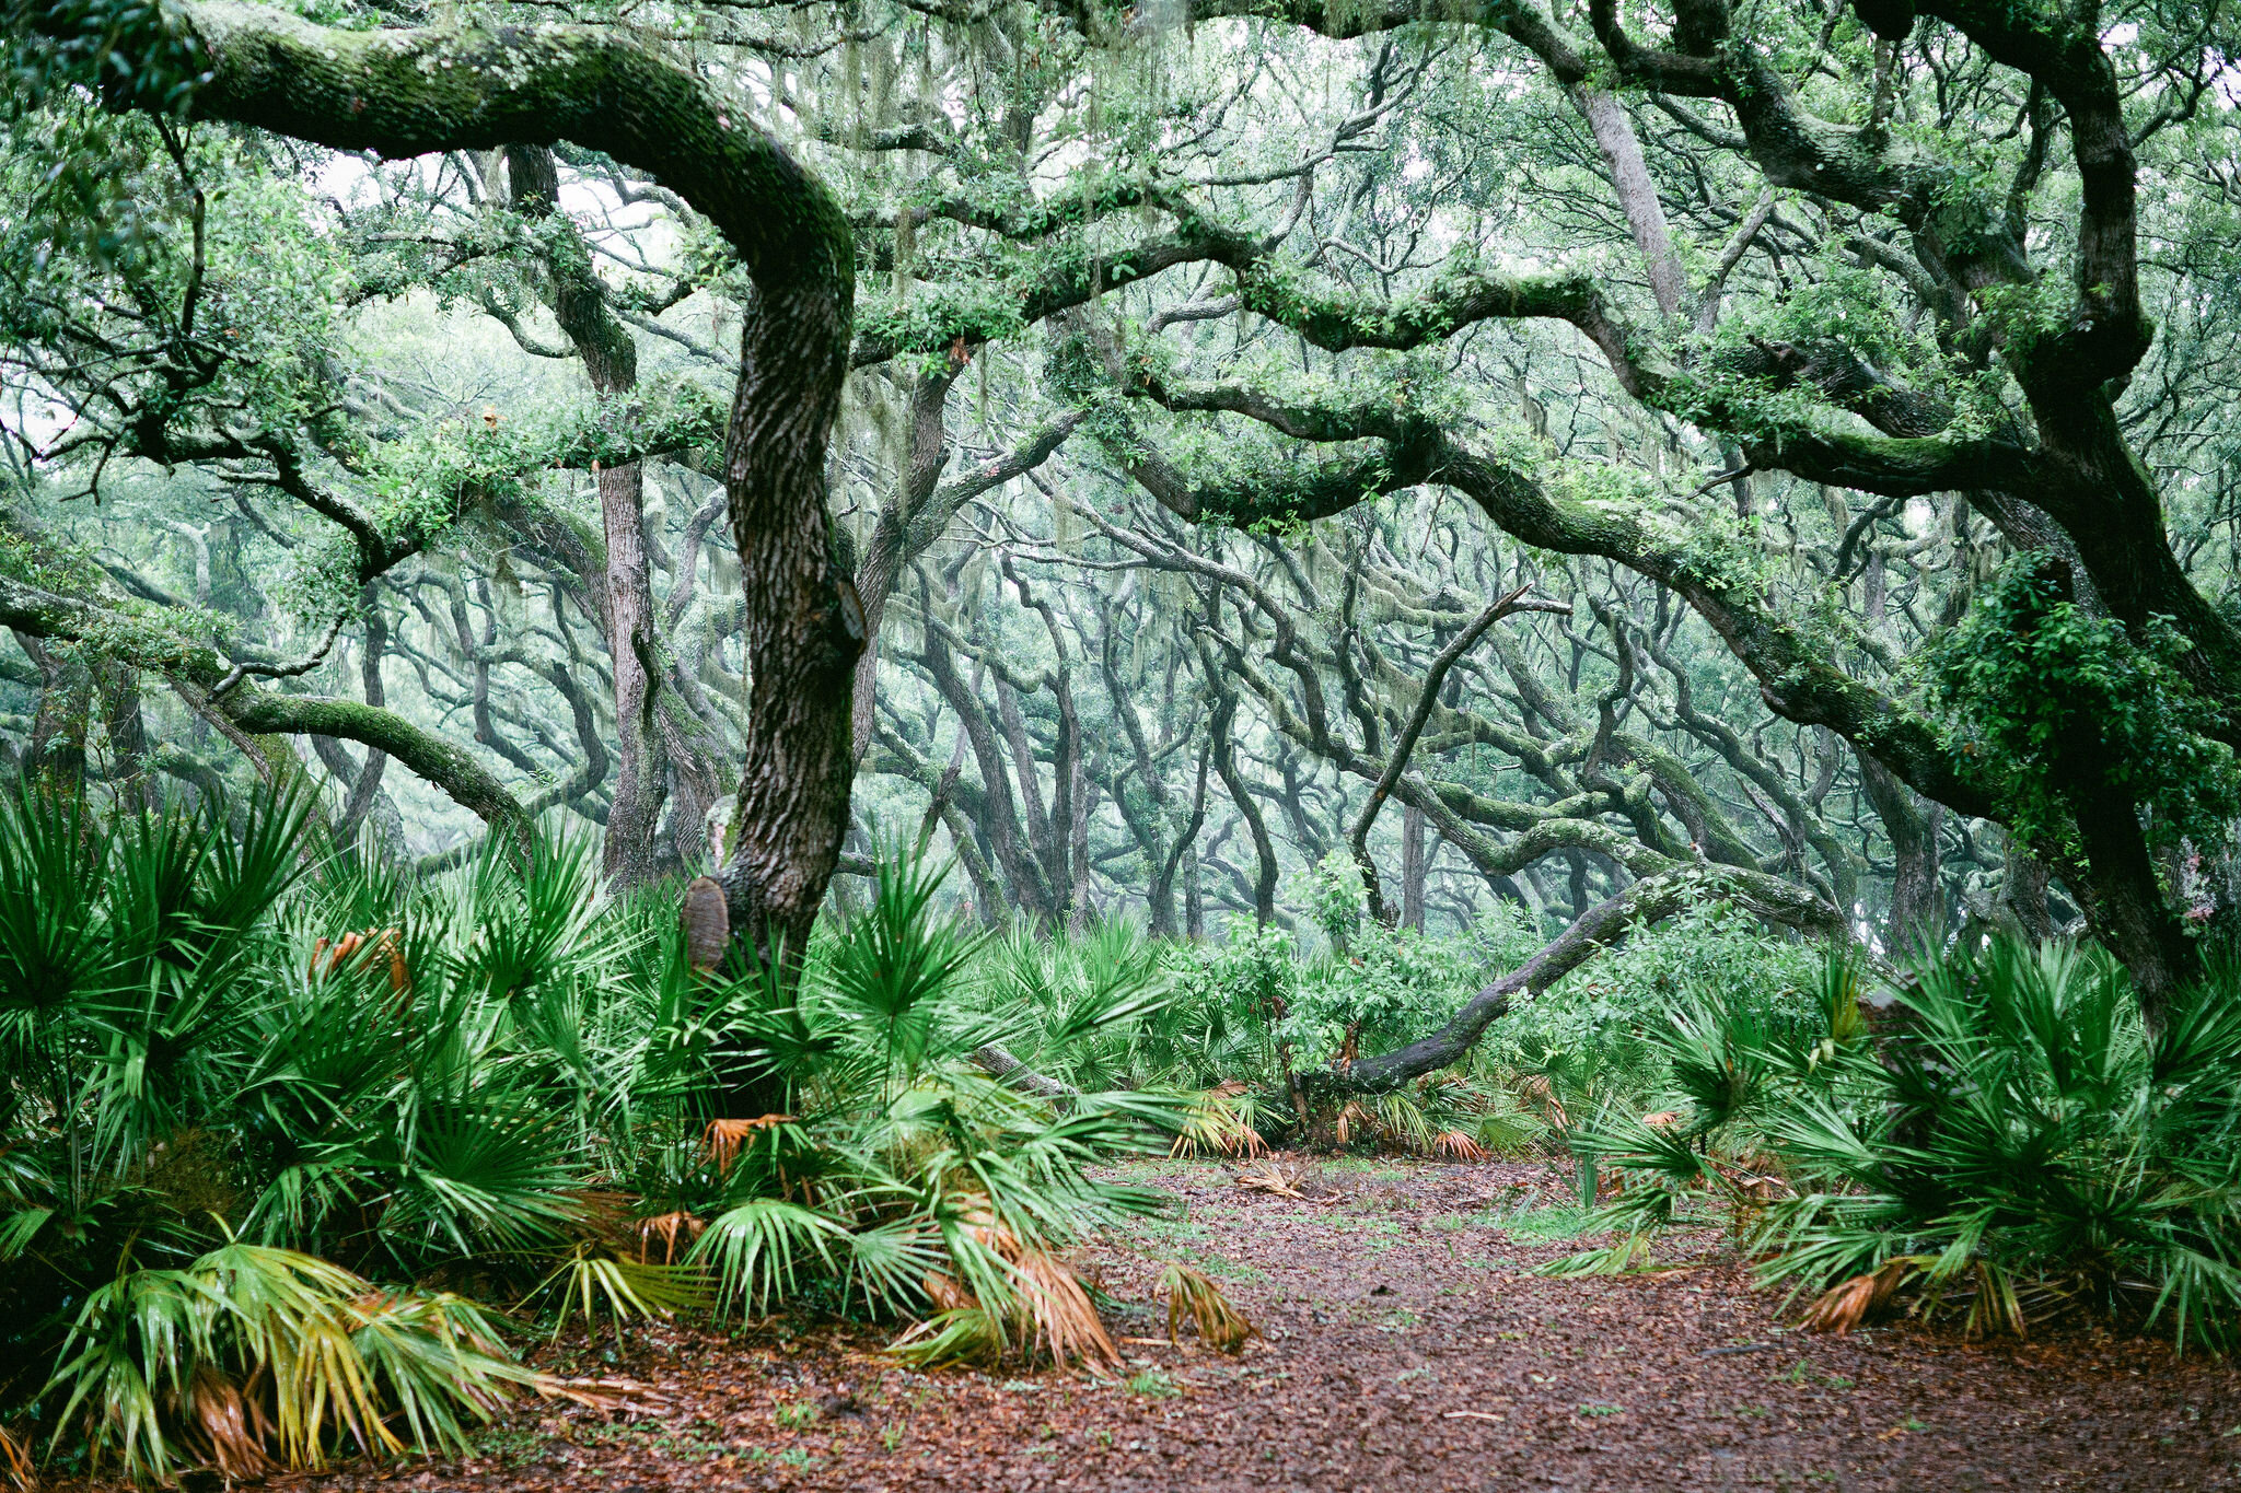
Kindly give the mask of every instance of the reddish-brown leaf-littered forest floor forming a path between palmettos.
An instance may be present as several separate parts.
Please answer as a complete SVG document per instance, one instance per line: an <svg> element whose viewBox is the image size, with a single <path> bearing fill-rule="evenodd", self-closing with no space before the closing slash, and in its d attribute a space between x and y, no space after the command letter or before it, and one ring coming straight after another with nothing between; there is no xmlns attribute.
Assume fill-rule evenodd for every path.
<svg viewBox="0 0 2241 1493"><path fill-rule="evenodd" d="M1549 1280L1578 1249L1569 1175L1531 1164L1309 1166L1293 1200L1237 1166L1129 1168L1177 1195L1082 1267L1132 1305L1127 1379L921 1374L890 1334L771 1318L632 1332L636 1419L524 1412L464 1462L343 1468L334 1493L542 1489L2223 1489L2241 1365L2080 1332L1965 1343L1793 1334L1710 1233L1679 1269ZM1181 1258L1266 1334L1165 1341Z"/></svg>

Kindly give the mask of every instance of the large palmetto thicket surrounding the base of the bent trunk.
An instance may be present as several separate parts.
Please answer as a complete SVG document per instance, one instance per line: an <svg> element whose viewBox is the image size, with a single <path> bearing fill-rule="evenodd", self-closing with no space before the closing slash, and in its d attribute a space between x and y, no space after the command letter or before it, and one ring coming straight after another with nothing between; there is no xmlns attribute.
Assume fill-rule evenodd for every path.
<svg viewBox="0 0 2241 1493"><path fill-rule="evenodd" d="M934 1318L921 1359L1112 1359L1062 1253L1159 1206L1087 1168L1165 1151L1185 1099L1053 1104L970 1054L1033 1021L1094 1072L1076 1050L1156 1005L1118 940L1087 963L1120 976L1004 1014L1015 960L890 860L789 987L751 949L695 965L675 895L605 895L587 837L410 880L305 821L287 790L0 801L11 1437L36 1408L40 1455L152 1482L457 1446L565 1392L506 1348L527 1314L811 1296Z"/></svg>

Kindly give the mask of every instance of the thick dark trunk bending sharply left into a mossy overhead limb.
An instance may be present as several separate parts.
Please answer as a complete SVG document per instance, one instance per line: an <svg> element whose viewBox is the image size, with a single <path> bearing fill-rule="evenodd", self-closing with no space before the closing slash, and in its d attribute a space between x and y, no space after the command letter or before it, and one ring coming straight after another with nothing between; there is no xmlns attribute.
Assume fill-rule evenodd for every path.
<svg viewBox="0 0 2241 1493"><path fill-rule="evenodd" d="M733 539L755 578L744 627L753 696L724 882L735 929L798 949L847 821L847 689L863 647L825 513L825 448L854 307L854 244L834 197L755 128L742 98L603 29L338 31L249 4L63 7L27 20L52 40L36 60L56 69L54 83L67 85L78 67L112 103L161 110L177 125L231 121L383 157L574 141L648 170L715 224L755 287L724 432ZM195 331L190 289L170 327L186 387L226 360L195 347ZM607 381L619 387L614 372ZM150 398L134 412L123 436L132 454L179 459L220 443L224 454L262 459L273 481L300 481L303 501L338 510L368 582L397 551L410 553L412 537L352 522L345 497L300 475L296 432L177 430L170 403ZM99 625L87 602L25 582L11 582L7 604L9 622L34 636L83 638ZM175 667L242 730L271 730L258 705L226 703L244 689L240 667L224 678L208 656Z"/></svg>

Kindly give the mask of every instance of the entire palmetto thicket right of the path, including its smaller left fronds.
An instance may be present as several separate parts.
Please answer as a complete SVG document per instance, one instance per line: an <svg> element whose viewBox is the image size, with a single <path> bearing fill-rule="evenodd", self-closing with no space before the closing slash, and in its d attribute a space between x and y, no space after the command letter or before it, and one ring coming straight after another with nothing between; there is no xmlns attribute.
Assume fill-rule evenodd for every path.
<svg viewBox="0 0 2241 1493"><path fill-rule="evenodd" d="M1696 1003L1654 1030L1676 1106L1575 1144L1620 1173L1571 1271L1647 1260L1723 1213L1759 1278L1851 1327L1905 1307L1970 1332L2073 1309L2230 1348L2241 1323L2241 974L2149 1032L2098 949L1992 942L1921 967L1869 1032L1831 960L1804 1032ZM1710 1209L1710 1213L1708 1213Z"/></svg>

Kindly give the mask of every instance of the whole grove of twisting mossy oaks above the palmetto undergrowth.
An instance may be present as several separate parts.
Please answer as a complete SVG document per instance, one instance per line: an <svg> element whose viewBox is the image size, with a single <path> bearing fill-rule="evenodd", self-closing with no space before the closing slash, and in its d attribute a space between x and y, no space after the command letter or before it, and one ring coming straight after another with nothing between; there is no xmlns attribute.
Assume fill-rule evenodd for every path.
<svg viewBox="0 0 2241 1493"><path fill-rule="evenodd" d="M13 423L34 766L101 719L220 770L134 734L161 678L311 743L338 833L394 759L621 880L744 763L735 913L796 940L881 826L991 920L1284 920L1336 853L1553 938L1360 1086L1705 898L1894 954L2082 915L2151 1012L2230 915L2216 13L545 16L18 11L16 170L121 145L11 289L76 421ZM255 231L332 316L251 295ZM352 347L392 298L500 327L509 398ZM63 564L99 526L146 537Z"/></svg>

